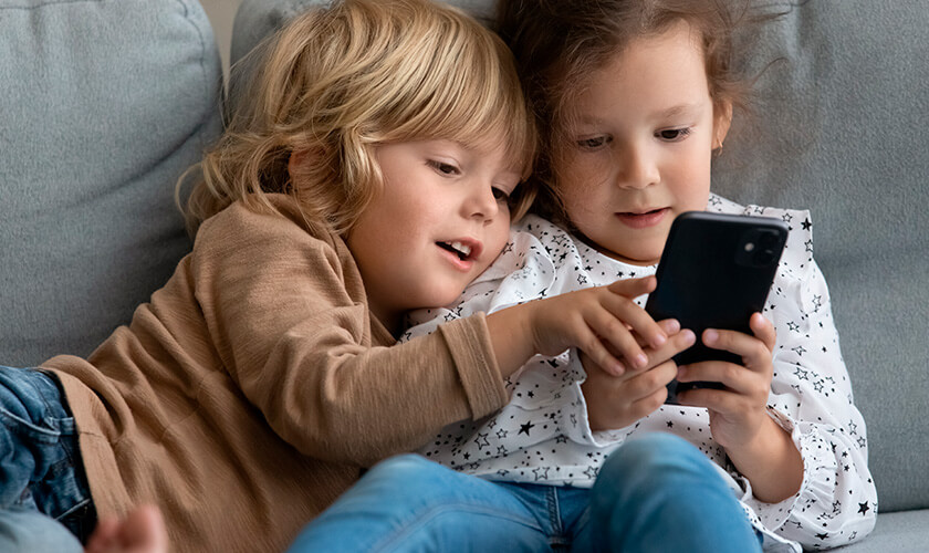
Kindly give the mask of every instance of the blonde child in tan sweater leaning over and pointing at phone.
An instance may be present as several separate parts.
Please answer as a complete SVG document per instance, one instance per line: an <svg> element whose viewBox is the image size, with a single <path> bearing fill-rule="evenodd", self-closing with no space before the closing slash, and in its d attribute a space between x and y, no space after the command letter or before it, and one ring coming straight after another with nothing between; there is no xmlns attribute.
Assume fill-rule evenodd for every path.
<svg viewBox="0 0 929 553"><path fill-rule="evenodd" d="M491 263L532 197L534 126L491 32L427 0L345 0L265 52L201 164L171 279L88 358L0 368L0 519L83 540L96 515L152 503L175 551L281 551L363 467L501 408L533 354L644 353L618 323L641 283L394 346L407 311ZM12 528L25 542L3 551L39 538Z"/></svg>

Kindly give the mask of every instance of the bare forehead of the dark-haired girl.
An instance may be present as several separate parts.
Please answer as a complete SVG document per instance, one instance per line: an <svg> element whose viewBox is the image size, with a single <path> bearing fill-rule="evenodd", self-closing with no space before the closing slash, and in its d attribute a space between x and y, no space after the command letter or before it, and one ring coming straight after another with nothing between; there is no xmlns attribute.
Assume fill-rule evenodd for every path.
<svg viewBox="0 0 929 553"><path fill-rule="evenodd" d="M633 39L583 84L582 121L603 112L681 109L709 101L702 41L685 22Z"/></svg>

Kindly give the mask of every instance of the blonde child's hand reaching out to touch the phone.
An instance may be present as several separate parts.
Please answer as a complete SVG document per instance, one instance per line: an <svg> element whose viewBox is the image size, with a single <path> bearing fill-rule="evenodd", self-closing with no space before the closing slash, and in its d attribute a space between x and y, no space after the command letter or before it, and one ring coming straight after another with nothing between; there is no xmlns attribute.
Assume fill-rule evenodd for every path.
<svg viewBox="0 0 929 553"><path fill-rule="evenodd" d="M646 368L648 355L643 344L661 347L668 335L633 300L655 285L654 276L627 279L523 304L531 309L534 351L559 355L577 347L614 376Z"/></svg>

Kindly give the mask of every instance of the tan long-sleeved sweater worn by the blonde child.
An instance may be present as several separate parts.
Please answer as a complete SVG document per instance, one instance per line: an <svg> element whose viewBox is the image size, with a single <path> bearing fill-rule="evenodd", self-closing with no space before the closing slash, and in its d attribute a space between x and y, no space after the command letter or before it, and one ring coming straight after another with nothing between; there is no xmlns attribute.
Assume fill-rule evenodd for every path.
<svg viewBox="0 0 929 553"><path fill-rule="evenodd" d="M482 315L394 345L336 236L240 204L61 378L101 515L161 509L174 551L279 552L354 482L507 401Z"/></svg>

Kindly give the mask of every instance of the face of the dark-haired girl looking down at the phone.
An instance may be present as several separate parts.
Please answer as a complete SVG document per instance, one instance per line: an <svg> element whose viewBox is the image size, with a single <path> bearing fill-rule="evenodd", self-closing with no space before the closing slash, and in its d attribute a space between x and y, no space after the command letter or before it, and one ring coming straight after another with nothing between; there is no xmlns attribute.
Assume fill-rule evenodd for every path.
<svg viewBox="0 0 929 553"><path fill-rule="evenodd" d="M613 258L657 263L674 218L707 207L729 111L714 114L696 39L680 23L634 40L580 97L559 187L572 223Z"/></svg>

